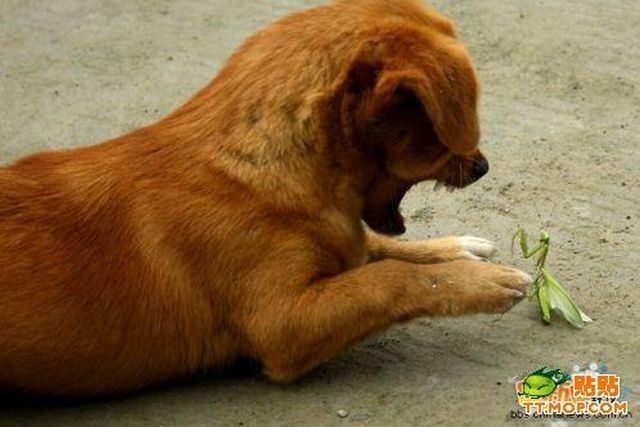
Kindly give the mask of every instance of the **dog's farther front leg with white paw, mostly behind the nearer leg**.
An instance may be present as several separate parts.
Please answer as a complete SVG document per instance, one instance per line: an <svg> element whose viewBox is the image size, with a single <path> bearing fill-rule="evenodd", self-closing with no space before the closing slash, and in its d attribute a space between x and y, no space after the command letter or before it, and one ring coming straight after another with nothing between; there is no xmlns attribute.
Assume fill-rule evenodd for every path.
<svg viewBox="0 0 640 427"><path fill-rule="evenodd" d="M367 250L369 261L392 258L430 264L456 259L482 261L494 254L495 247L490 241L473 236L403 241L367 230Z"/></svg>

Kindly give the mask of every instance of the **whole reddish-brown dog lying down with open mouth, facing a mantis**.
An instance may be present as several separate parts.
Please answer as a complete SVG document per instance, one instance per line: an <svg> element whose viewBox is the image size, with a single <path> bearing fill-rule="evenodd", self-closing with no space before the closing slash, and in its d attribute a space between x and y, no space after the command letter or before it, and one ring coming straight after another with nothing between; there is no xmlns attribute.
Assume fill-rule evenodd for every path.
<svg viewBox="0 0 640 427"><path fill-rule="evenodd" d="M176 112L0 169L0 386L128 391L239 357L293 380L416 316L497 313L529 278L476 238L400 242L423 180L487 171L453 25L337 1L250 38Z"/></svg>

